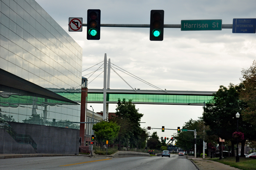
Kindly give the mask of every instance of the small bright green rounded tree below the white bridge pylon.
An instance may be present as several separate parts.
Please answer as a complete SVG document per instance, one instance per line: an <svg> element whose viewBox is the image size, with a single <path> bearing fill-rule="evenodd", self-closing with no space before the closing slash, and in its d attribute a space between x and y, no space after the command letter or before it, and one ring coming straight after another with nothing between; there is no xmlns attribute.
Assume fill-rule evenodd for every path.
<svg viewBox="0 0 256 170"><path fill-rule="evenodd" d="M113 141L117 138L120 127L115 122L100 121L93 125L96 140L103 148L106 141Z"/></svg>

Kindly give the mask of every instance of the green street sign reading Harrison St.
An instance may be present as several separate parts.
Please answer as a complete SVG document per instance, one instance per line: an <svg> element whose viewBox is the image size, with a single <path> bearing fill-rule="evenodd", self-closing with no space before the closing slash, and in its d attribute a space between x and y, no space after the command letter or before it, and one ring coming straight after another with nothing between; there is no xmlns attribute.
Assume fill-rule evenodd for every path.
<svg viewBox="0 0 256 170"><path fill-rule="evenodd" d="M181 31L221 30L222 20L181 20Z"/></svg>

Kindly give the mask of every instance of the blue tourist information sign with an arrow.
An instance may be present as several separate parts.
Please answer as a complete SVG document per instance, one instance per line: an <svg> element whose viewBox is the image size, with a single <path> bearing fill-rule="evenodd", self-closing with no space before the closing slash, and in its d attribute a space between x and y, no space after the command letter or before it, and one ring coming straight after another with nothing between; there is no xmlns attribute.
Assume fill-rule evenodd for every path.
<svg viewBox="0 0 256 170"><path fill-rule="evenodd" d="M256 18L234 18L232 33L255 33Z"/></svg>

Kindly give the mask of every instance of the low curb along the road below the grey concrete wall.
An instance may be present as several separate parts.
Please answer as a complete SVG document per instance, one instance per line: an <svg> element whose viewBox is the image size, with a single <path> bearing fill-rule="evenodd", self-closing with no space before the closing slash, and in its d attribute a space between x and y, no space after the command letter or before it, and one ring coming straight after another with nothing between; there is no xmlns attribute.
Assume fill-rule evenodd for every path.
<svg viewBox="0 0 256 170"><path fill-rule="evenodd" d="M84 156L84 155L69 155L69 154L21 154L21 155L0 156L0 159L28 158L28 157L53 157L53 156Z"/></svg>

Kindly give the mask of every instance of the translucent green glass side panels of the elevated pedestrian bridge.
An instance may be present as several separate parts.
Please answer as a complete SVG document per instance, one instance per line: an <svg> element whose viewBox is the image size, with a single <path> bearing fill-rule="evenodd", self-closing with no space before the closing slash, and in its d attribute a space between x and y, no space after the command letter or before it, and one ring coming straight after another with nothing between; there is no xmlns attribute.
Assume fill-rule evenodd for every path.
<svg viewBox="0 0 256 170"><path fill-rule="evenodd" d="M116 102L125 98L133 102L145 103L204 103L212 99L212 96L203 95L154 95L154 94L107 94L107 101ZM103 101L102 93L88 93L87 101Z"/></svg>

